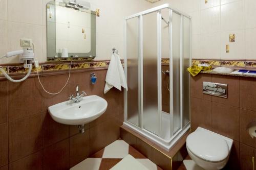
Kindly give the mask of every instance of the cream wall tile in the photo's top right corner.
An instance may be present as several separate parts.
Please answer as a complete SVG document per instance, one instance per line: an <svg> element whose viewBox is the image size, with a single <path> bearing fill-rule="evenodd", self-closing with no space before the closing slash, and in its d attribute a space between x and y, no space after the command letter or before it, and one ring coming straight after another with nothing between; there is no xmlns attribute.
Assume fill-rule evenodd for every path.
<svg viewBox="0 0 256 170"><path fill-rule="evenodd" d="M245 19L246 19L246 29L256 27L256 1L245 0Z"/></svg>

